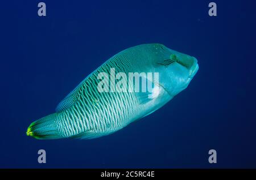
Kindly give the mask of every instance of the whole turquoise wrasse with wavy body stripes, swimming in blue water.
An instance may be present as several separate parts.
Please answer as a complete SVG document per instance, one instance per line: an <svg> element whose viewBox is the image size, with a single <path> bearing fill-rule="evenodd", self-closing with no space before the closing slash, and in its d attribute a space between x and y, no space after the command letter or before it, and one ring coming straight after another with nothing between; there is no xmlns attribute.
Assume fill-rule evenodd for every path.
<svg viewBox="0 0 256 180"><path fill-rule="evenodd" d="M32 122L26 134L36 139L94 139L112 134L167 104L188 87L198 70L195 57L163 44L127 48L82 80L55 113ZM139 85L145 80L150 88L134 91L136 77L128 76L133 73L139 75ZM113 91L118 85L121 89Z"/></svg>

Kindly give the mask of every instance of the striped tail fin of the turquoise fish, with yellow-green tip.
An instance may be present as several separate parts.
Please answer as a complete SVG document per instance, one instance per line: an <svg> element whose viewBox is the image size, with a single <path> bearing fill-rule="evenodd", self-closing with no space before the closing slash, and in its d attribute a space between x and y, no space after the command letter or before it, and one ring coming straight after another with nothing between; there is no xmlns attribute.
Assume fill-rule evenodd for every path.
<svg viewBox="0 0 256 180"><path fill-rule="evenodd" d="M56 125L56 113L47 115L46 117L32 122L27 128L27 136L36 139L60 139L63 138Z"/></svg>

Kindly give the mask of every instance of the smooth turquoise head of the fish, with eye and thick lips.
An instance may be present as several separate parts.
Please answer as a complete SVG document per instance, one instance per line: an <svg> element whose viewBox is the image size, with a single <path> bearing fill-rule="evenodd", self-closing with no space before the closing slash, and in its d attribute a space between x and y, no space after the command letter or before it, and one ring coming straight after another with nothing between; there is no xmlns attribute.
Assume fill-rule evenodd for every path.
<svg viewBox="0 0 256 180"><path fill-rule="evenodd" d="M176 52L164 45L161 49L155 66L159 72L159 85L174 97L187 88L199 66L195 57Z"/></svg>

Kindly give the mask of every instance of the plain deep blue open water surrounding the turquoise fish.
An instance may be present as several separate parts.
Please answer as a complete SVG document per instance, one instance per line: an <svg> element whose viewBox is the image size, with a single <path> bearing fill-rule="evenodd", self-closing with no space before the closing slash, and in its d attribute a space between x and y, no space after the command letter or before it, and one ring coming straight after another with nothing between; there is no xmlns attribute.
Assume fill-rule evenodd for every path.
<svg viewBox="0 0 256 180"><path fill-rule="evenodd" d="M216 17L210 1L43 1L46 17L39 2L1 2L0 168L256 168L254 1L214 1ZM151 42L199 61L167 105L98 139L26 136L106 59Z"/></svg>

